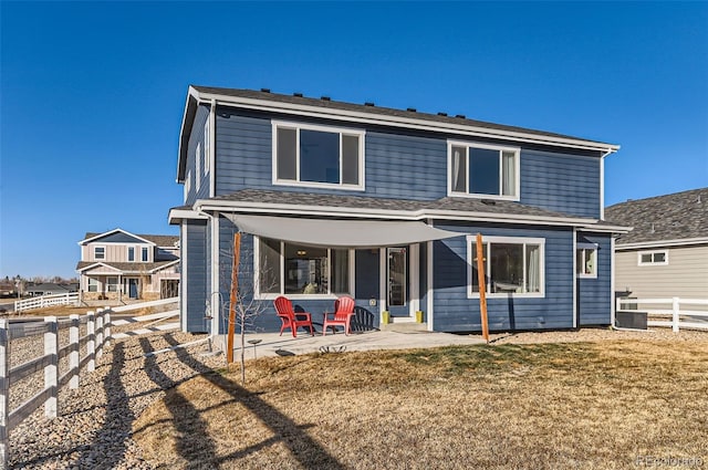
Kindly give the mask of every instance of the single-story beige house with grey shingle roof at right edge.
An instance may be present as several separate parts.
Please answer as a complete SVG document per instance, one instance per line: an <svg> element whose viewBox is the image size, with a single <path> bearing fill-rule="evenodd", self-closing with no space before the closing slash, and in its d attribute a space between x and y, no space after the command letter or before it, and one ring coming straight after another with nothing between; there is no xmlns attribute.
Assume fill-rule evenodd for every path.
<svg viewBox="0 0 708 470"><path fill-rule="evenodd" d="M617 291L639 299L708 299L708 188L629 200L605 215L634 227L615 243Z"/></svg>

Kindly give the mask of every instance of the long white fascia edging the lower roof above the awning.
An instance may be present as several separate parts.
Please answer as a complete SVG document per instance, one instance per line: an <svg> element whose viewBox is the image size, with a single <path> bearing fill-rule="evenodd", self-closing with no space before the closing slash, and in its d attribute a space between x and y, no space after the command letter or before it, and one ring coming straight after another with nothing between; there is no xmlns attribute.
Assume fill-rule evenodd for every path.
<svg viewBox="0 0 708 470"><path fill-rule="evenodd" d="M500 215L492 212L462 212L452 210L388 210L388 209L357 209L351 207L326 207L326 206L293 206L293 205L264 205L262 202L243 201L214 201L198 200L195 208L204 212L264 212L290 216L325 216L325 217L353 217L367 219L396 219L396 220L455 220L455 221L483 221L483 222L506 222L524 224L546 224L546 226L581 226L585 227L592 221L587 219L560 218L560 217L537 217L520 215Z"/></svg>

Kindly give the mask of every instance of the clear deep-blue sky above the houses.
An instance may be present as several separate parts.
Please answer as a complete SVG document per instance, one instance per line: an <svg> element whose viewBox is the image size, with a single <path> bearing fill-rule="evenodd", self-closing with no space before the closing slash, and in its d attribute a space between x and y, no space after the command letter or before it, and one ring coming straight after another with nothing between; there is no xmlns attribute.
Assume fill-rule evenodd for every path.
<svg viewBox="0 0 708 470"><path fill-rule="evenodd" d="M607 205L708 186L708 3L7 2L0 276L171 233L189 84L445 111L622 145Z"/></svg>

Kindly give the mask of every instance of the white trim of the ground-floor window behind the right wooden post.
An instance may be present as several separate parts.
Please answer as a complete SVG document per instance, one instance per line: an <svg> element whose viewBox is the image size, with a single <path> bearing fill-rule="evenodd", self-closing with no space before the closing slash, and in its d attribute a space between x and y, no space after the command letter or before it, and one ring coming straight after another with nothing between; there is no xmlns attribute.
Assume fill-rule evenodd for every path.
<svg viewBox="0 0 708 470"><path fill-rule="evenodd" d="M468 234L467 237L467 299L479 299L479 292L472 292L472 263L475 257L477 255L477 236ZM518 297L518 299L543 299L545 297L545 239L544 238L527 238L527 237L485 237L482 236L482 243L487 243L487 248L489 249L489 243L516 243L523 244L523 272L525 278L525 246L527 244L538 244L541 247L540 260L539 263L541 265L541 272L539 273L539 292L514 292L514 293L492 293L487 292L487 299L508 299L509 296ZM475 249L472 249L472 246ZM573 253L575 255L575 253ZM487 257L487 253L485 253ZM489 263L485 263L485 270L488 278L489 275ZM525 279L524 279L525 283ZM489 285L487 285L489 290Z"/></svg>

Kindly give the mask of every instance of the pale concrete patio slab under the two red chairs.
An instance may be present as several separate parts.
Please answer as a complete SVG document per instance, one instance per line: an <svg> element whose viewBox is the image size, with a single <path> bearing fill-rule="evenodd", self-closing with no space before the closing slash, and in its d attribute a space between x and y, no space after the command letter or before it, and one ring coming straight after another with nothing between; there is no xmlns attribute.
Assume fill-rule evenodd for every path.
<svg viewBox="0 0 708 470"><path fill-rule="evenodd" d="M435 332L396 332L396 331L372 331L365 333L327 334L322 333L311 336L309 333L298 332L298 337L292 337L291 333L284 332L282 336L278 333L256 333L247 334L246 341L260 340L256 346L257 357L264 356L291 356L300 354L316 353L321 351L373 351L373 349L410 349L420 347L439 347L450 345L473 345L485 344L481 336L455 335L450 333ZM225 349L226 336L220 335L215 340L218 348ZM235 352L240 351L240 336L235 337ZM253 346L246 345L248 359L253 357Z"/></svg>

